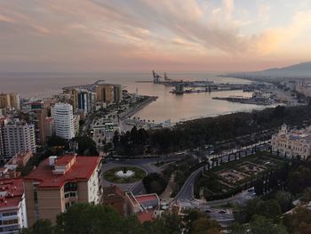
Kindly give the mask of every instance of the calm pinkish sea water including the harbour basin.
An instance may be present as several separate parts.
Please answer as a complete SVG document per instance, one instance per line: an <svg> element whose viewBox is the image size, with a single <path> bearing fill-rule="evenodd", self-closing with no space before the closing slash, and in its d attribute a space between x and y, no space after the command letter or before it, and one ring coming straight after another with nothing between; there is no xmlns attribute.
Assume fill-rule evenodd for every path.
<svg viewBox="0 0 311 234"><path fill-rule="evenodd" d="M209 80L214 83L251 84L251 81L233 77L219 77L219 73L168 73L171 79ZM163 74L160 74L163 75ZM1 73L0 93L20 93L21 97L49 97L70 85L88 85L97 80L123 85L130 93L157 96L157 100L141 109L134 117L161 123L187 121L201 117L215 117L233 112L264 109L264 106L213 100L212 97L239 95L250 97L251 93L223 91L211 93L170 93L172 87L137 81L152 81L151 72L110 73Z"/></svg>

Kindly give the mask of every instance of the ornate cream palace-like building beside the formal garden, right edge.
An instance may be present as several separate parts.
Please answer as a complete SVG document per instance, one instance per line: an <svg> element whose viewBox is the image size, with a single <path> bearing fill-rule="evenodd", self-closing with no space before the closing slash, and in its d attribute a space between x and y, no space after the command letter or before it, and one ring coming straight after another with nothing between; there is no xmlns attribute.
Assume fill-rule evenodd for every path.
<svg viewBox="0 0 311 234"><path fill-rule="evenodd" d="M282 156L307 159L311 156L311 126L289 131L287 125L282 125L279 133L272 136L271 145Z"/></svg>

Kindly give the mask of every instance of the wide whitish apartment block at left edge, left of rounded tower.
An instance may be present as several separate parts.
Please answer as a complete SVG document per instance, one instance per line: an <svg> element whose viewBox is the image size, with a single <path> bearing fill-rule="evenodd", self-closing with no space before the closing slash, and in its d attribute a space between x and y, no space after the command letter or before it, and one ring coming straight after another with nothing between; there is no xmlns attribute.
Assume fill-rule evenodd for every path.
<svg viewBox="0 0 311 234"><path fill-rule="evenodd" d="M17 153L28 150L36 153L35 125L29 125L19 119L7 119L4 121L2 132L5 158L12 158Z"/></svg>

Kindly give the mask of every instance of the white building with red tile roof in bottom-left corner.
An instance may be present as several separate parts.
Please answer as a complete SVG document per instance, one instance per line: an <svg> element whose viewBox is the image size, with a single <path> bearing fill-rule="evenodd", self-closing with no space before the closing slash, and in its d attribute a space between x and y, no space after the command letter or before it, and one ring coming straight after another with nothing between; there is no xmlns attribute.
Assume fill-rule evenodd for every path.
<svg viewBox="0 0 311 234"><path fill-rule="evenodd" d="M28 228L23 179L0 179L0 233Z"/></svg>

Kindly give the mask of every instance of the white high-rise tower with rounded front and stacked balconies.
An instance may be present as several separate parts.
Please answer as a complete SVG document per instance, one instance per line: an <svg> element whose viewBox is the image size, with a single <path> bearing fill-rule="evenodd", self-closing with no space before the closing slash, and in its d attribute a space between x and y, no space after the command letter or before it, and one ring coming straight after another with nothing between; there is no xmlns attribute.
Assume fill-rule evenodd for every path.
<svg viewBox="0 0 311 234"><path fill-rule="evenodd" d="M75 137L73 108L68 103L57 103L51 110L55 134L66 140Z"/></svg>

